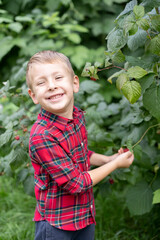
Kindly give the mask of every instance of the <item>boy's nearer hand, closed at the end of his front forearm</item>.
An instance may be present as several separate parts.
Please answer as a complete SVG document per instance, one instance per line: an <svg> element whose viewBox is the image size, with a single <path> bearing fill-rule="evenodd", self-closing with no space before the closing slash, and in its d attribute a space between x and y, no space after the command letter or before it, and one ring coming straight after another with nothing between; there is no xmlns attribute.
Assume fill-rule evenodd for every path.
<svg viewBox="0 0 160 240"><path fill-rule="evenodd" d="M134 160L134 155L130 151L120 154L116 159L117 168L128 168Z"/></svg>

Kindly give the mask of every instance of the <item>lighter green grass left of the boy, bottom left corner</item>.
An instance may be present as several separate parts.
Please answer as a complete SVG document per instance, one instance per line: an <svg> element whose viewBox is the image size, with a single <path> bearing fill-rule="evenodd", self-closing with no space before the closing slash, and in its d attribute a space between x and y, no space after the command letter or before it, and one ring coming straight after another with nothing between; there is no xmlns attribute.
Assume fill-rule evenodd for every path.
<svg viewBox="0 0 160 240"><path fill-rule="evenodd" d="M35 199L14 180L0 177L0 240L34 239Z"/></svg>

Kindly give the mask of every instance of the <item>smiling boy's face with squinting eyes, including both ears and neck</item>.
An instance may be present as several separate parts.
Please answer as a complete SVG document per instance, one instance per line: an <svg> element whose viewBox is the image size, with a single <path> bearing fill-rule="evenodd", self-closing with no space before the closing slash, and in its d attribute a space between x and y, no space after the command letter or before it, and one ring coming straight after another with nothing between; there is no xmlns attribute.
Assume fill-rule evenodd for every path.
<svg viewBox="0 0 160 240"><path fill-rule="evenodd" d="M73 117L73 93L79 91L79 78L64 63L33 64L30 79L28 93L35 104L56 115Z"/></svg>

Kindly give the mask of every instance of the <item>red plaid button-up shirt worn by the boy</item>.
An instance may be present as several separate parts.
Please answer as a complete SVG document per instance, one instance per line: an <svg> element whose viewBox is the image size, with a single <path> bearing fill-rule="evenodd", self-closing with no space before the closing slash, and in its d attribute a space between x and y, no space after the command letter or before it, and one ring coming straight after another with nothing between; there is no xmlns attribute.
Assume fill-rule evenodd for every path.
<svg viewBox="0 0 160 240"><path fill-rule="evenodd" d="M83 112L73 120L42 109L30 134L29 152L35 170L37 207L34 221L47 220L64 230L95 223L95 206L87 132Z"/></svg>

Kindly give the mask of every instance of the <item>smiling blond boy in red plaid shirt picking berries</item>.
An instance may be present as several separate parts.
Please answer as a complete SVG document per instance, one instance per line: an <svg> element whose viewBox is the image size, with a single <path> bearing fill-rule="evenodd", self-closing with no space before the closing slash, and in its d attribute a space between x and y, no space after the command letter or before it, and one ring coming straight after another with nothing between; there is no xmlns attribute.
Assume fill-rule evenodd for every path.
<svg viewBox="0 0 160 240"><path fill-rule="evenodd" d="M37 206L35 240L93 240L92 187L117 168L129 167L131 152L110 157L87 147L83 112L74 106L79 78L58 52L35 54L27 66L28 93L41 112L30 133ZM90 165L98 166L90 170Z"/></svg>

